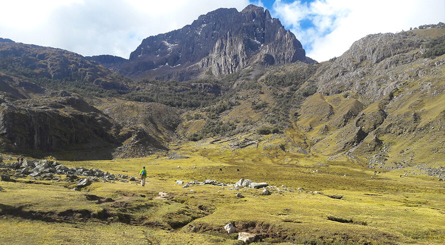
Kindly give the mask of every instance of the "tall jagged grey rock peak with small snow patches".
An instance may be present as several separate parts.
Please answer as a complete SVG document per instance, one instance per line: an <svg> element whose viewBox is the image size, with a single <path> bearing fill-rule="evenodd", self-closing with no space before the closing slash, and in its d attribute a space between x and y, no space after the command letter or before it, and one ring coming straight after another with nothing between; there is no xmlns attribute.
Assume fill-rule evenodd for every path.
<svg viewBox="0 0 445 245"><path fill-rule="evenodd" d="M308 59L295 36L267 9L248 5L241 12L219 8L181 29L143 39L120 72L140 77L159 68L177 70L198 63L214 74L228 74L254 62L297 60Z"/></svg>

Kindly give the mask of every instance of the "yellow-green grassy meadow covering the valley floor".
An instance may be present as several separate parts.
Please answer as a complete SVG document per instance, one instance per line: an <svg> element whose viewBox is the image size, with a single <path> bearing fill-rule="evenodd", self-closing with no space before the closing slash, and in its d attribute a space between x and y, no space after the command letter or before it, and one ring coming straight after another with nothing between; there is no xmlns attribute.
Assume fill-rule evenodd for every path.
<svg viewBox="0 0 445 245"><path fill-rule="evenodd" d="M86 209L92 213L105 209L116 217L131 215L132 221L82 219L78 213L62 222L6 215L0 219L0 240L20 243L23 236L17 233L19 229L20 234L24 231L26 239L31 237L44 243L233 243L235 235L222 230L230 221L235 221L237 231L262 234L265 242L438 244L445 240L443 182L433 181L428 176L400 178L397 171L382 172L371 178L373 170L357 163L293 154L270 147L263 149L261 144L234 151L222 150L227 144L208 144L205 148L184 145L177 152L190 156L187 159L174 160L159 155L63 162L68 166L94 167L129 175L136 175L140 166L145 165L148 184L144 188L135 183L95 182L82 191L73 191L57 186L69 187L69 183L63 181L37 181L48 185L2 181L4 190L0 192L0 203L3 211L21 206L23 212L50 212L54 216L67 209ZM181 168L177 169L177 165ZM197 168L192 169L192 166ZM318 171L313 172L316 169ZM240 199L234 196L237 190L227 190L227 187L193 185L181 188L174 184L177 179L234 183L240 177L266 181L278 188L284 184L294 192L273 191L269 196L261 196L261 190L241 189L239 192L245 198ZM298 187L344 197L338 200L299 192ZM168 192L175 199L152 199L158 191ZM115 202L97 204L87 200L85 194L111 197ZM122 203L127 203L123 209ZM352 219L354 223L331 221L327 216ZM355 224L362 222L367 225ZM174 223L180 223L179 227L186 225L172 229Z"/></svg>

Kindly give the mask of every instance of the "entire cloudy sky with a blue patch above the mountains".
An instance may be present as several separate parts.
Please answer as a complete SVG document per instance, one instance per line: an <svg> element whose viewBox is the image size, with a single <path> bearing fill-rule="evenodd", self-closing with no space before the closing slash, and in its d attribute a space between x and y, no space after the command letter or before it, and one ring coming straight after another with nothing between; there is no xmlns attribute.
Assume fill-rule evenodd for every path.
<svg viewBox="0 0 445 245"><path fill-rule="evenodd" d="M445 0L0 0L0 37L128 58L147 36L251 3L269 9L317 61L340 56L367 34L445 22Z"/></svg>

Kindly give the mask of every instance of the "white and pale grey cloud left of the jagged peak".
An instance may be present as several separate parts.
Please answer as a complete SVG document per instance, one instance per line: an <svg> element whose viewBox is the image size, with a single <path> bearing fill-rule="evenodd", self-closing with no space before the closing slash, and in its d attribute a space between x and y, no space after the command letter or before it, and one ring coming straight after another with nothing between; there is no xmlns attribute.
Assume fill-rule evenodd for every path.
<svg viewBox="0 0 445 245"><path fill-rule="evenodd" d="M147 36L181 28L219 7L241 10L247 4L248 0L2 1L0 37L82 55L128 57Z"/></svg>

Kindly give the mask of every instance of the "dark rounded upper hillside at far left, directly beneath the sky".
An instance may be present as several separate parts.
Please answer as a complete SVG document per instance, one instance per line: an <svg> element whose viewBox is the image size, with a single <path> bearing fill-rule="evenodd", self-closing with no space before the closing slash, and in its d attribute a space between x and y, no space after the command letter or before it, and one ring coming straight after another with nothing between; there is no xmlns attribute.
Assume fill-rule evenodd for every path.
<svg viewBox="0 0 445 245"><path fill-rule="evenodd" d="M10 63L14 65L8 66ZM117 73L80 54L59 48L0 42L0 69L41 79L42 84L48 86L52 85L49 84L51 80L63 80L102 89L128 89Z"/></svg>

